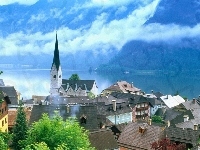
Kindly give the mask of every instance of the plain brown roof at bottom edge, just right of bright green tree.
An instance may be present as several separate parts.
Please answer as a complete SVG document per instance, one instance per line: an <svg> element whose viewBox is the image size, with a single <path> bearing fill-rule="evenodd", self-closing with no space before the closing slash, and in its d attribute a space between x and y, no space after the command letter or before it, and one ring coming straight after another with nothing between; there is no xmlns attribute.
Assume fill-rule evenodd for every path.
<svg viewBox="0 0 200 150"><path fill-rule="evenodd" d="M111 130L98 130L90 132L89 140L97 150L117 149L117 141Z"/></svg>

